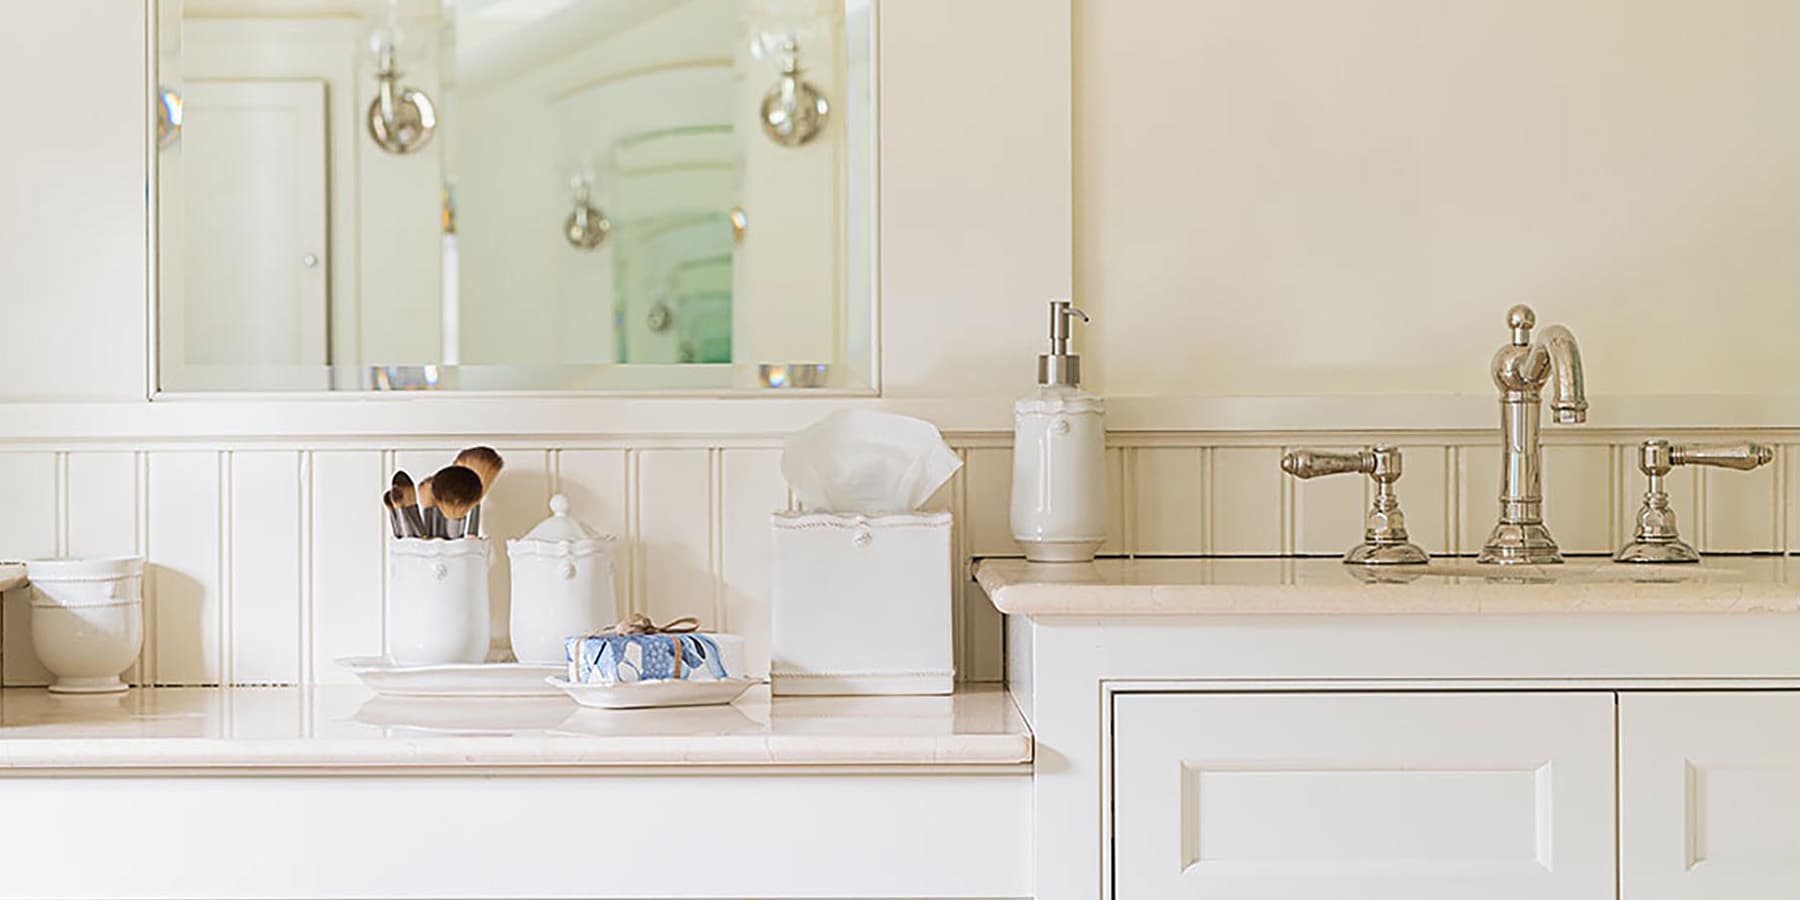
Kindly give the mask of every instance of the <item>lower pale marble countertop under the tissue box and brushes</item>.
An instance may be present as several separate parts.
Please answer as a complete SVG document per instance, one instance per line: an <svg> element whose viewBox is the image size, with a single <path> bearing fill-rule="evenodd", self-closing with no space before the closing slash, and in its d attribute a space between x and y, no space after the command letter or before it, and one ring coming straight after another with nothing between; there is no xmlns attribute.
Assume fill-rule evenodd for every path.
<svg viewBox="0 0 1800 900"><path fill-rule="evenodd" d="M139 769L967 767L1031 761L999 686L950 697L781 697L587 709L364 688L0 691L0 774Z"/></svg>

